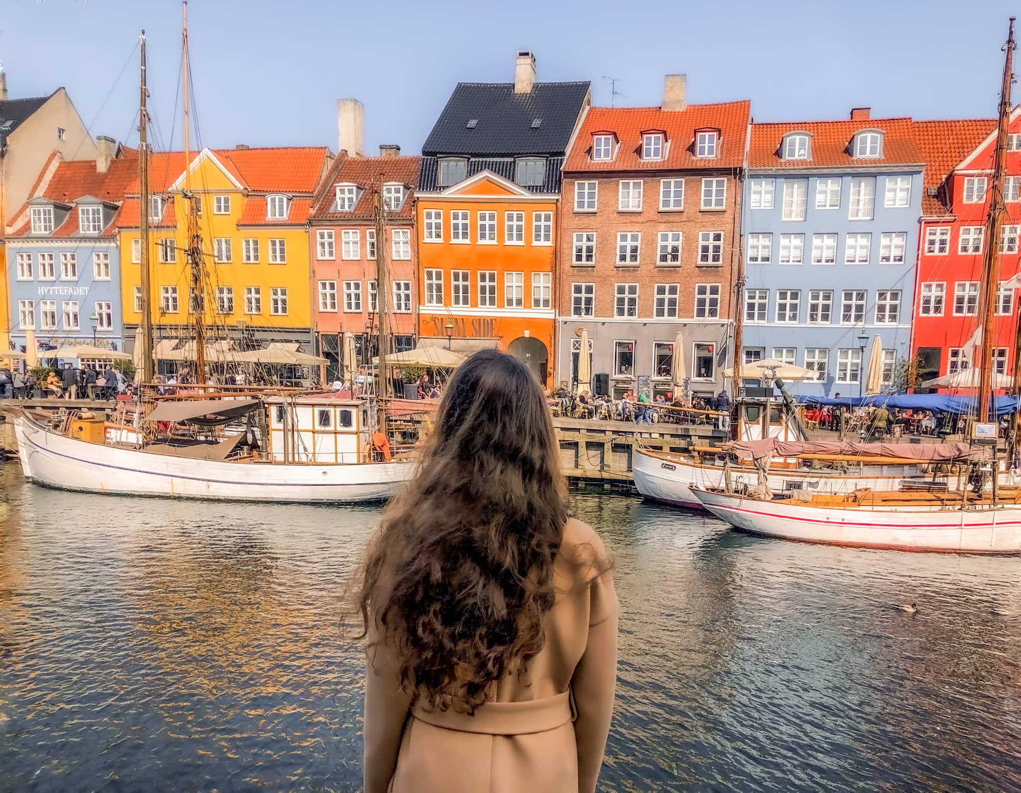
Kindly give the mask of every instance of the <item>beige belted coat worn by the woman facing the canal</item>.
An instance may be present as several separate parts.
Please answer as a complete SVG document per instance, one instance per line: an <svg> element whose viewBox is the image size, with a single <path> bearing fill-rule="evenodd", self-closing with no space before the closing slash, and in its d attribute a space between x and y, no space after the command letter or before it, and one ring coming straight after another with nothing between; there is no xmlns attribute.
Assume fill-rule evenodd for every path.
<svg viewBox="0 0 1021 793"><path fill-rule="evenodd" d="M553 569L556 602L526 675L499 681L474 716L409 709L392 657L369 666L364 793L592 793L617 682L617 595L598 534L564 529Z"/></svg>

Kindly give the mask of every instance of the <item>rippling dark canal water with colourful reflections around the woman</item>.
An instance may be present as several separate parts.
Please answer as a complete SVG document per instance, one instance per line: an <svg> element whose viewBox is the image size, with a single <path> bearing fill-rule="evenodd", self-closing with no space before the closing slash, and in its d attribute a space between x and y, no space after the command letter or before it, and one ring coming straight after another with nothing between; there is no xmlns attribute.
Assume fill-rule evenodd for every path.
<svg viewBox="0 0 1021 793"><path fill-rule="evenodd" d="M0 477L0 790L359 788L337 598L377 509ZM1021 790L1021 616L992 611L1021 614L1021 560L762 540L632 498L574 511L622 607L601 790Z"/></svg>

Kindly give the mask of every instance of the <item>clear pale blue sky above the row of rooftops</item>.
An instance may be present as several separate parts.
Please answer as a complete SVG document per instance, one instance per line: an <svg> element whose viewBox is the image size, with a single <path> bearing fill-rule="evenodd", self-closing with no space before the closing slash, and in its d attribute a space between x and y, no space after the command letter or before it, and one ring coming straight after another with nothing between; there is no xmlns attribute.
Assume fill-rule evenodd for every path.
<svg viewBox="0 0 1021 793"><path fill-rule="evenodd" d="M175 123L180 147L180 2L0 6L10 96L65 86L93 135L117 140L137 139L136 45L144 28L150 106L162 147ZM1007 19L1019 7L1003 0L192 0L188 17L203 144L336 150L335 100L355 97L366 105L368 153L379 143L417 153L454 84L513 81L518 49L535 52L539 80L591 81L597 105L610 104L603 75L619 79L619 105L640 106L659 104L663 76L680 72L689 102L748 98L758 121L842 119L866 105L874 116L991 116Z"/></svg>

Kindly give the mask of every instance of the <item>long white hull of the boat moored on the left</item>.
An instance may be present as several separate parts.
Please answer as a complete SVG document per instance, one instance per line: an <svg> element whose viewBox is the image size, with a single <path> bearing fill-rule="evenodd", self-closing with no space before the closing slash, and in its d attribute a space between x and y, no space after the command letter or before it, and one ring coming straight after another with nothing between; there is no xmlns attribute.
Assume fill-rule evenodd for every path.
<svg viewBox="0 0 1021 793"><path fill-rule="evenodd" d="M26 478L126 496L273 502L371 502L393 496L412 462L288 465L195 460L90 444L13 418Z"/></svg>

